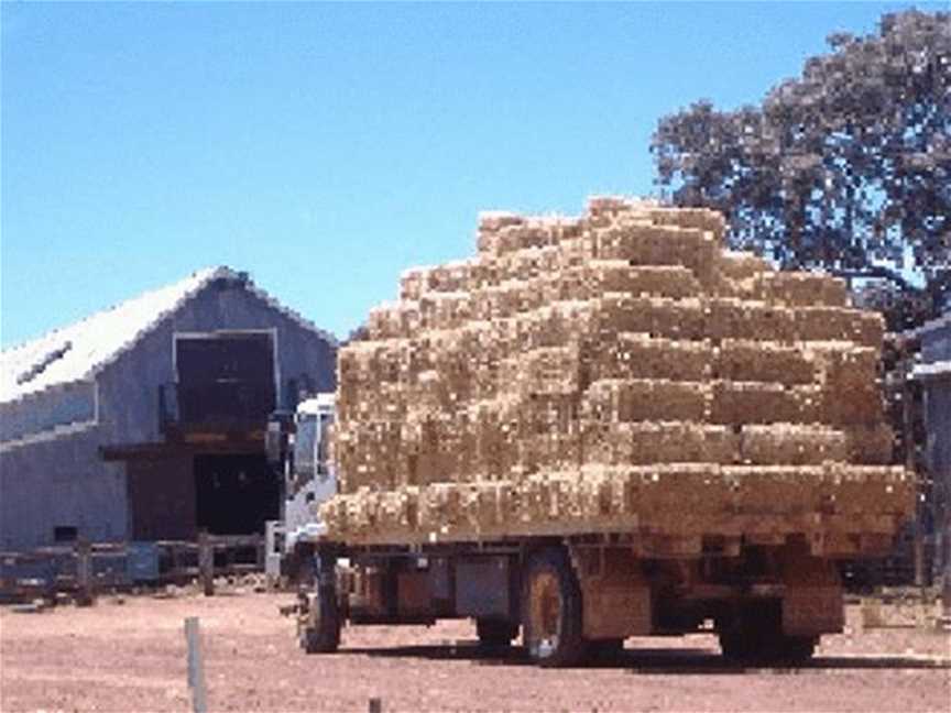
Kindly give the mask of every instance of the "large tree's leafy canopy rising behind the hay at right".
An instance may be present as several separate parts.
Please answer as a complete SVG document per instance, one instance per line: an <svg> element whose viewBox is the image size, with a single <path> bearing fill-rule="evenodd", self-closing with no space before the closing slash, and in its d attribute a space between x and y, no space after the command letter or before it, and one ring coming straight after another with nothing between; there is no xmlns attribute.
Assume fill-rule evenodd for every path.
<svg viewBox="0 0 951 713"><path fill-rule="evenodd" d="M664 117L658 184L780 267L890 276L919 293L917 321L951 293L951 14L886 14L828 43L758 107Z"/></svg>

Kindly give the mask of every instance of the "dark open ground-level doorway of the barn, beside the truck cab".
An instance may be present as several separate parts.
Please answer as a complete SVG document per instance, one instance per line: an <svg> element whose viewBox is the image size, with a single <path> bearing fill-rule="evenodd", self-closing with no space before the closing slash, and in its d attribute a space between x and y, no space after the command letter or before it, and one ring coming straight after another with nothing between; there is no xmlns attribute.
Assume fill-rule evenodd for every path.
<svg viewBox="0 0 951 713"><path fill-rule="evenodd" d="M266 456L195 457L198 529L214 535L264 531L264 522L280 517L280 482Z"/></svg>

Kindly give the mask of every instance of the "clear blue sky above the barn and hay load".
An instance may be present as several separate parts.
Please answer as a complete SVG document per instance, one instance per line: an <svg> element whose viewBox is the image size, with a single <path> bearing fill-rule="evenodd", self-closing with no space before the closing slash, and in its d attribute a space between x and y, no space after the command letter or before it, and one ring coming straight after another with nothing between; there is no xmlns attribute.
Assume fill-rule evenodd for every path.
<svg viewBox="0 0 951 713"><path fill-rule="evenodd" d="M217 264L343 337L478 211L649 194L659 117L904 7L3 2L0 341Z"/></svg>

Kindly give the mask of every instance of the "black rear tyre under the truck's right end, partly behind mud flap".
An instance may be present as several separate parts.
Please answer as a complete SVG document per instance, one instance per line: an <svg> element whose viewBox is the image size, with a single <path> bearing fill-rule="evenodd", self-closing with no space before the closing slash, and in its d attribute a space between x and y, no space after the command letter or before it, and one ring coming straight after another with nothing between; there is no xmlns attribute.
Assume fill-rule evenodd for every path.
<svg viewBox="0 0 951 713"><path fill-rule="evenodd" d="M808 661L818 637L784 634L780 612L768 602L747 604L720 632L723 657L741 666L799 666Z"/></svg>

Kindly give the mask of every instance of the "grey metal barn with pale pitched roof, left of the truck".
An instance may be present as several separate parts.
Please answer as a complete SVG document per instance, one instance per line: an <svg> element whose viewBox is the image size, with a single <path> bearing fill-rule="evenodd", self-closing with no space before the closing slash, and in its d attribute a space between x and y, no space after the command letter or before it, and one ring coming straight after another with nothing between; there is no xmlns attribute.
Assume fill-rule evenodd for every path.
<svg viewBox="0 0 951 713"><path fill-rule="evenodd" d="M332 390L336 350L214 267L3 351L0 550L261 531L267 417Z"/></svg>

